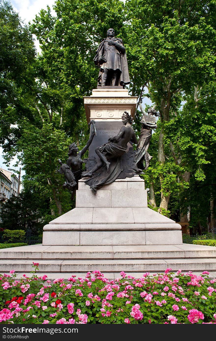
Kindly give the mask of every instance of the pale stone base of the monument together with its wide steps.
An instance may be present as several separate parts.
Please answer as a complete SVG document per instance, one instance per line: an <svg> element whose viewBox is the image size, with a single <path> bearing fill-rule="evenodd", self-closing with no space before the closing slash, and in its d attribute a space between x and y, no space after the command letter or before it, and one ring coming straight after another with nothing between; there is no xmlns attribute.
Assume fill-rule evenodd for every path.
<svg viewBox="0 0 216 341"><path fill-rule="evenodd" d="M144 272L204 270L216 277L216 248L183 244L181 225L147 207L144 180L118 179L93 194L80 180L76 208L44 226L43 244L0 250L0 273L14 269L18 278L85 277L100 270L107 278L120 271L139 278Z"/></svg>

